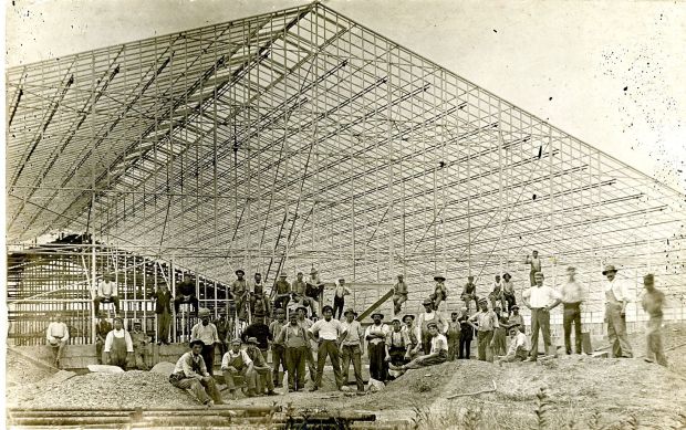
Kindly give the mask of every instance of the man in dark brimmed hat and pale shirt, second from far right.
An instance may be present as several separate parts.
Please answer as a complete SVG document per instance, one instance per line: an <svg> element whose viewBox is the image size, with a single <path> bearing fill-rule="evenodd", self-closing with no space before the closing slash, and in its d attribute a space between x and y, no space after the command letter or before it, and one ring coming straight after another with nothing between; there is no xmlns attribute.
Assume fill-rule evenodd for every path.
<svg viewBox="0 0 686 430"><path fill-rule="evenodd" d="M633 353L626 337L626 305L631 301L628 287L616 277L617 270L609 264L603 270L605 283L605 322L607 323L607 339L612 356L632 358Z"/></svg>

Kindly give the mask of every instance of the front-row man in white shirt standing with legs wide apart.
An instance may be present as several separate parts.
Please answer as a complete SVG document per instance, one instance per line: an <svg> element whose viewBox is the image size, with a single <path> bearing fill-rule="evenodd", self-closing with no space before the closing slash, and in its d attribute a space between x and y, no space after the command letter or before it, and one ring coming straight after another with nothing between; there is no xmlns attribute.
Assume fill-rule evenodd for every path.
<svg viewBox="0 0 686 430"><path fill-rule="evenodd" d="M339 389L343 386L337 345L339 337L343 333L343 327L337 319L333 318L333 307L329 305L322 307L322 314L324 318L319 319L310 327L310 336L319 343L319 350L316 353L316 378L314 379L314 386L311 391L316 391L322 385L326 356L331 359L331 367L333 367L336 386Z"/></svg>

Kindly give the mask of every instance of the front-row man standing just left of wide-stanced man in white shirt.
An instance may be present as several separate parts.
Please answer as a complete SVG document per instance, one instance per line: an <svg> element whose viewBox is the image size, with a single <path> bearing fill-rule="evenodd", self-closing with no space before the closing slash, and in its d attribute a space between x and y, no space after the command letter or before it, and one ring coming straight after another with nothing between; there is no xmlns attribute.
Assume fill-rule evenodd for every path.
<svg viewBox="0 0 686 430"><path fill-rule="evenodd" d="M298 315L295 313L289 315L289 324L281 327L276 342L283 344L285 347L289 391L293 392L303 389L305 387L306 357L312 355L312 349L310 348L310 336L298 324Z"/></svg>

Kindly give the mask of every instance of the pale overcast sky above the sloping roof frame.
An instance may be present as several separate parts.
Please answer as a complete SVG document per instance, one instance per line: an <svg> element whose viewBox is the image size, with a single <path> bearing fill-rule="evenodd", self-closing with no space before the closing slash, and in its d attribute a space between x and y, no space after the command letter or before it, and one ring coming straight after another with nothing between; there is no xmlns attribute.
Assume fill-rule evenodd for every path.
<svg viewBox="0 0 686 430"><path fill-rule="evenodd" d="M305 1L6 0L7 64ZM686 190L686 2L329 0L332 9Z"/></svg>

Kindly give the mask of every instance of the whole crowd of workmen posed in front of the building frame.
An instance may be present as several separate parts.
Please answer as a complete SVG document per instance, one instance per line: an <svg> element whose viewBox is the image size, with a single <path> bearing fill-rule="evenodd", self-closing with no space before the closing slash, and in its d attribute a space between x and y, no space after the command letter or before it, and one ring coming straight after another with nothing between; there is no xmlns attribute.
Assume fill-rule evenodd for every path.
<svg viewBox="0 0 686 430"><path fill-rule="evenodd" d="M581 354L581 314L586 297L584 289L575 280L575 269L568 268L568 282L561 291L557 291L544 285L544 274L536 251L532 256L527 256L526 263L531 265L531 286L523 291L521 297L523 305L531 311L530 338L526 335L524 321L519 314L509 273L497 275L491 291L481 297L477 295L474 277L469 276L460 295L464 306L460 312L451 313L449 319L440 312L440 304L448 296L446 279L437 275L434 277L434 291L423 302L424 312L417 316L406 314L402 319L394 318L391 325L384 324L384 315L375 312L371 315L373 323L363 328L354 310L347 308L343 312L345 296L351 293L343 279L339 280L335 286L333 306L324 305L318 316L324 284L319 280L315 270L312 270L306 282L302 279L303 274L298 273L293 285L287 281L285 274L281 274L272 289L271 297L267 296L259 273L250 285L245 280L245 272L238 270L237 280L231 284L231 294L237 303L239 318L249 315L251 324L242 331L240 337L231 338L233 332L228 329L226 315L210 322L210 311L200 308L197 313L200 322L190 331L190 350L178 359L169 381L176 387L191 389L202 403L221 402L212 377L216 346L220 348L220 368L232 398L237 388L242 388L249 397L273 395L274 387L281 386L281 371L288 375L289 391L304 388L305 370L309 370L313 381L310 390L318 390L322 386L326 358L331 361L335 384L341 390L349 389L352 361L357 392L363 394L361 357L365 353L368 356L371 378L387 381L408 369L454 359L469 359L470 343L475 335L477 357L480 360L497 361L500 365L534 361L539 358L539 334L543 338L544 355L557 356L557 350L551 348L550 311L559 304L563 305L565 352L569 355ZM606 276L605 322L612 355L632 357L625 322L626 306L631 302L628 289L616 277L617 269L614 265L605 266L602 273ZM191 283L186 279L181 284ZM646 361L657 361L666 366L661 334L665 296L655 289L652 274L644 276L644 287L641 302L649 315ZM160 308L166 311L166 307L170 306L172 296L168 289L165 289L164 285L158 287L153 296L157 304L156 312ZM190 292L189 289L181 291ZM407 284L399 274L393 286L394 314L402 312L407 294ZM166 304L160 297L167 301ZM470 312L471 302L477 306L476 313ZM174 301L177 311L181 303L191 303L195 307L197 298L194 301L183 294L177 296ZM121 318L115 318L114 327L111 327L105 315L100 316L96 326L98 361L104 347L106 364L124 368L146 368L145 345L149 338L141 332L139 322L134 322L134 329L129 333L123 328ZM266 321L268 316L273 319L269 325ZM168 343L168 327L166 335L162 336L165 333L159 333L159 321L160 318L158 343ZM69 334L65 326L53 327L53 324L49 327L48 340L55 346L59 360ZM571 345L572 328L574 348ZM247 345L245 349L243 344ZM270 346L271 366L267 363Z"/></svg>

